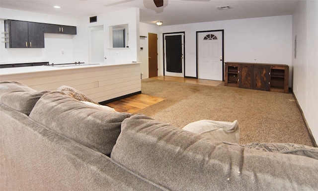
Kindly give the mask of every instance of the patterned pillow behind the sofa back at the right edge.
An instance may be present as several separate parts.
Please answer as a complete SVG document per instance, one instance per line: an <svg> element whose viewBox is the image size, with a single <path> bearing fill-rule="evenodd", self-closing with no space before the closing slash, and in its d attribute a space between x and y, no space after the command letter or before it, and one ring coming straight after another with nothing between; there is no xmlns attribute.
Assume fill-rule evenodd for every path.
<svg viewBox="0 0 318 191"><path fill-rule="evenodd" d="M293 143L248 143L242 144L241 146L254 150L301 155L313 159L318 159L318 148L306 145L299 145Z"/></svg>

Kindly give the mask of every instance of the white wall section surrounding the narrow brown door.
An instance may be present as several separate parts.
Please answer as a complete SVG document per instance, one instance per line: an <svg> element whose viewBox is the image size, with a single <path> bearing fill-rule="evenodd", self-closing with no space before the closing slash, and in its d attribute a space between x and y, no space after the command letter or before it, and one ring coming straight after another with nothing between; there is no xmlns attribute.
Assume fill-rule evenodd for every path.
<svg viewBox="0 0 318 191"><path fill-rule="evenodd" d="M143 47L143 50L140 50L140 62L142 62L141 64L141 72L143 73L142 78L149 78L149 67L148 67L148 33L154 33L157 34L158 36L158 53L160 51L160 42L161 42L161 35L160 35L160 27L157 25L153 25L153 24L146 24L146 23L140 23L140 36L146 36L145 37L140 37L139 41L140 41L140 47ZM158 66L159 71L162 70L162 64L161 63L162 58L158 55ZM161 75L162 76L162 75Z"/></svg>

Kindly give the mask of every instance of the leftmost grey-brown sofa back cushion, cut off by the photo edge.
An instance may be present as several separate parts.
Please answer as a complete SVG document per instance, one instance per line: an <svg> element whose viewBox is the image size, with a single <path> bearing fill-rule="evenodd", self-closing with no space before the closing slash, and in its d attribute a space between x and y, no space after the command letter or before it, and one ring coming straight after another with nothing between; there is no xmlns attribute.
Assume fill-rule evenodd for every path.
<svg viewBox="0 0 318 191"><path fill-rule="evenodd" d="M0 103L29 115L35 103L48 91L36 91L12 81L0 82Z"/></svg>

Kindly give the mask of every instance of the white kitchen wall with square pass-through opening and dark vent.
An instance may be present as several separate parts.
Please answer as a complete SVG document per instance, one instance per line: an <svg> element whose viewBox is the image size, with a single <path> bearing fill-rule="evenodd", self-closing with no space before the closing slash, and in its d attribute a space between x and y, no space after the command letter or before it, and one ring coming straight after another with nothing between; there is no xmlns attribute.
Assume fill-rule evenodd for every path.
<svg viewBox="0 0 318 191"><path fill-rule="evenodd" d="M104 38L101 40L104 41L106 64L139 61L139 51L137 51L137 47L139 47L139 8L128 8L91 16L97 16L97 22L89 23L89 16L78 19L78 31L73 41L75 58L85 62L89 61L88 27L103 25ZM129 48L111 48L109 46L109 27L123 24L128 24Z"/></svg>

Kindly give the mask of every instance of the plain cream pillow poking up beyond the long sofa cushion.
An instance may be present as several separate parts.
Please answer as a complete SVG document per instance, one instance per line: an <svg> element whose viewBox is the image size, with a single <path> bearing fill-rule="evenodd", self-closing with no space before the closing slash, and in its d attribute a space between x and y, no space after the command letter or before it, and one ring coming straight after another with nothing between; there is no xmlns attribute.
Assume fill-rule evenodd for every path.
<svg viewBox="0 0 318 191"><path fill-rule="evenodd" d="M218 141L239 143L239 122L199 120L187 124L182 128L186 131L209 136Z"/></svg>

